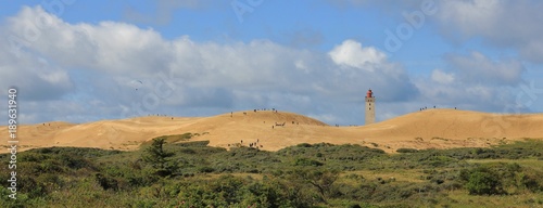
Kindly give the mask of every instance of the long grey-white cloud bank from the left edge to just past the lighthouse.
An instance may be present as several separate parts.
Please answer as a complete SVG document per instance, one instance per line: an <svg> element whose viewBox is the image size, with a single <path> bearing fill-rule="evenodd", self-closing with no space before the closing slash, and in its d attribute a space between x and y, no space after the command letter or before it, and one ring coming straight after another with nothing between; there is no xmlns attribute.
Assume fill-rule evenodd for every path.
<svg viewBox="0 0 543 208"><path fill-rule="evenodd" d="M25 40L29 27L37 32ZM266 39L217 43L180 36L166 40L152 28L126 23L70 24L40 6L22 9L2 28L2 35L26 41L17 50L18 57L9 42L0 49L5 55L0 57L0 72L7 75L0 77L2 88L16 84L36 92L26 94L34 103L25 112L29 120L23 122L157 113L203 116L257 107L307 115L337 113L348 115L344 120L362 120L350 112L362 109L368 88L381 102L418 93L405 69L355 40L345 40L329 53ZM135 87L134 80L141 80L141 86ZM38 102L40 96L49 101ZM59 103L70 107L59 108ZM338 103L346 104L333 108ZM330 112L319 110L324 108Z"/></svg>

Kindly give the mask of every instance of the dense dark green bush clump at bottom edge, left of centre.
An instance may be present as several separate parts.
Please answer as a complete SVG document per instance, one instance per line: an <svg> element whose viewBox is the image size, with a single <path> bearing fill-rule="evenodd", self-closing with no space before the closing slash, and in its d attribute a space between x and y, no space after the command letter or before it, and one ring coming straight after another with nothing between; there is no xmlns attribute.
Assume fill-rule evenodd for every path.
<svg viewBox="0 0 543 208"><path fill-rule="evenodd" d="M166 198L180 207L312 207L315 199L291 181L267 178L256 181L229 174L165 184ZM160 195L155 195L160 197Z"/></svg>

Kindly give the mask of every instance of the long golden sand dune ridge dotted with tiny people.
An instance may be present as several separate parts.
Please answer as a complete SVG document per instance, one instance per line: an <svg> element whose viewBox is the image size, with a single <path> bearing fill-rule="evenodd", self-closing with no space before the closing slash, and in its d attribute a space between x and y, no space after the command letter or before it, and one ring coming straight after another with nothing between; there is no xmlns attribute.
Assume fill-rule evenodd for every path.
<svg viewBox="0 0 543 208"><path fill-rule="evenodd" d="M247 114L247 115L245 115ZM258 141L261 148L277 151L302 142L353 143L387 152L400 147L447 148L489 146L523 138L543 139L543 114L496 115L456 109L428 109L359 127L331 127L302 115L270 110L236 112L213 117L140 117L89 123L49 122L18 127L20 148L86 146L136 150L155 136L186 132L201 135L212 146ZM276 122L285 126L275 126ZM8 135L4 126L0 134ZM8 145L8 143L5 143ZM4 146L5 146L4 145ZM7 148L2 148L5 153Z"/></svg>

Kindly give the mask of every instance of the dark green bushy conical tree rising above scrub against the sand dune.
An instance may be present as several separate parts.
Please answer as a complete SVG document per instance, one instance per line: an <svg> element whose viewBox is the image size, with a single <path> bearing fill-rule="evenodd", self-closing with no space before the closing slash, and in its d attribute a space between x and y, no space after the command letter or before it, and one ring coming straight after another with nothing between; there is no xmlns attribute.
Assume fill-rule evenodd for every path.
<svg viewBox="0 0 543 208"><path fill-rule="evenodd" d="M155 173L161 177L169 176L177 169L177 164L169 160L175 154L164 151L164 144L166 144L164 138L154 139L142 156L143 161L151 164L156 169Z"/></svg>

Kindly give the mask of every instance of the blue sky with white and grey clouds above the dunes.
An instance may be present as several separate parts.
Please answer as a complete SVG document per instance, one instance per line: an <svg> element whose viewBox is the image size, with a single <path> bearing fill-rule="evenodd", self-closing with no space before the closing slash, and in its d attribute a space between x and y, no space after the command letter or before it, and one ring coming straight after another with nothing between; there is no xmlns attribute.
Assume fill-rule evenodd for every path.
<svg viewBox="0 0 543 208"><path fill-rule="evenodd" d="M543 112L543 1L7 1L20 123L254 108L364 125L421 107ZM8 120L8 119L5 119Z"/></svg>

